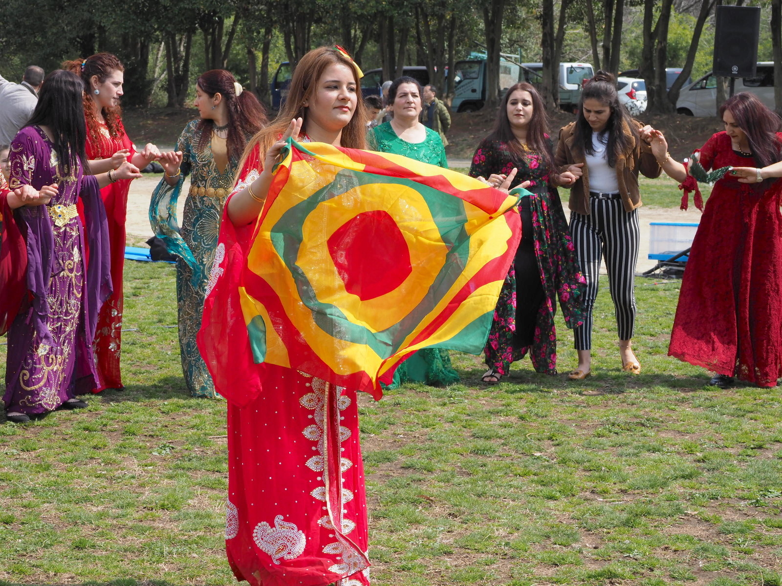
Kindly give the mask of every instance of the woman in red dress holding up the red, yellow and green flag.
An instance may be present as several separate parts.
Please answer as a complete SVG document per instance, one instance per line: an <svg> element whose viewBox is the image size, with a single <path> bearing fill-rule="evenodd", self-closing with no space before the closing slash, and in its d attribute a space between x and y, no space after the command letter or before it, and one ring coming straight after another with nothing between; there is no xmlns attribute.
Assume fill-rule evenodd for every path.
<svg viewBox="0 0 782 586"><path fill-rule="evenodd" d="M280 138L364 148L358 77L335 48L300 60L277 119L249 141L239 164L206 284L199 348L229 399L226 552L237 580L253 586L369 584L356 391L272 364L242 370L238 348L223 342L242 339L241 330L246 338L232 269L252 244Z"/></svg>

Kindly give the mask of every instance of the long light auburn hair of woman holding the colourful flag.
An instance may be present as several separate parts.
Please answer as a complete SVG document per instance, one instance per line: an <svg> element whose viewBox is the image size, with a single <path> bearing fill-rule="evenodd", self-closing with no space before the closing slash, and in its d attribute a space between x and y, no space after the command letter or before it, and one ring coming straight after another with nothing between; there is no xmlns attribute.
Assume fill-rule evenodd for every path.
<svg viewBox="0 0 782 586"><path fill-rule="evenodd" d="M302 132L307 131L308 108L303 103L317 91L317 81L321 79L326 68L335 63L346 65L350 67L351 71L356 72L353 61L332 47L315 48L301 58L296 69L293 70L285 104L280 108L277 117L247 143L242 161L239 163L239 172L256 145L260 145L260 156L263 159L271 145L274 145L288 129L292 119L302 118L301 130ZM353 112L350 122L343 128L341 140L343 147L366 148L366 121L367 112L364 108L364 98L361 97L361 80L356 76L356 110Z"/></svg>

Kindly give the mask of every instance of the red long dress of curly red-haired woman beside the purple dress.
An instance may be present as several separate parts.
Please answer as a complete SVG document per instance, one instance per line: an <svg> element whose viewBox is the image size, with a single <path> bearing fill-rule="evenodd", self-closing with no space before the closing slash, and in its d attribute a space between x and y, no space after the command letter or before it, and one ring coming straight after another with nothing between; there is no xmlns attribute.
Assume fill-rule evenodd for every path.
<svg viewBox="0 0 782 586"><path fill-rule="evenodd" d="M88 132L87 158L90 160L109 159L115 152L128 148L131 152L127 156L127 160L130 160L135 154L133 143L125 134L125 128L121 122L119 130L117 137L112 137L106 124L100 124L97 141ZM106 219L109 220L109 255L111 258L111 280L114 292L101 307L98 316L98 326L95 329L93 347L95 348L95 361L99 376L99 386L93 389L95 393L99 393L105 388L123 387L120 375L123 308L122 270L125 263L127 191L130 188L131 180L124 179L106 185L105 188L100 190L103 205L106 207Z"/></svg>

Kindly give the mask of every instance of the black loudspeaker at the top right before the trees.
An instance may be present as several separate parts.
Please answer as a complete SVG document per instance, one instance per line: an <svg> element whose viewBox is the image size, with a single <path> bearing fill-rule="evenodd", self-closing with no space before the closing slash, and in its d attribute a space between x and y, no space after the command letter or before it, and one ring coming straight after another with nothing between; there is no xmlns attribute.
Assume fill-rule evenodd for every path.
<svg viewBox="0 0 782 586"><path fill-rule="evenodd" d="M717 6L714 34L714 74L754 77L758 64L760 8Z"/></svg>

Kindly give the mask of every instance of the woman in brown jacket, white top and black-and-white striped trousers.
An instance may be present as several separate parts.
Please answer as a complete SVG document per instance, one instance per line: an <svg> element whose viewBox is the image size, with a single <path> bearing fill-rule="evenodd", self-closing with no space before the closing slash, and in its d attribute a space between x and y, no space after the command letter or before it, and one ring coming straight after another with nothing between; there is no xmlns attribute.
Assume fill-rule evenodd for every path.
<svg viewBox="0 0 782 586"><path fill-rule="evenodd" d="M584 323L574 328L579 363L569 374L571 380L583 380L591 373L592 310L603 256L616 312L622 370L640 373L632 348L636 316L633 285L640 240L638 173L646 177L660 174L655 155L640 138L642 127L619 103L612 74L598 71L583 84L576 121L559 131L555 165L563 171L583 171L574 183L562 185L571 190L570 233L587 279Z"/></svg>

